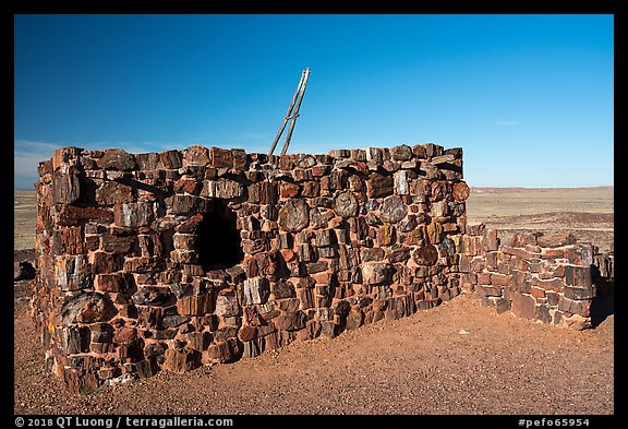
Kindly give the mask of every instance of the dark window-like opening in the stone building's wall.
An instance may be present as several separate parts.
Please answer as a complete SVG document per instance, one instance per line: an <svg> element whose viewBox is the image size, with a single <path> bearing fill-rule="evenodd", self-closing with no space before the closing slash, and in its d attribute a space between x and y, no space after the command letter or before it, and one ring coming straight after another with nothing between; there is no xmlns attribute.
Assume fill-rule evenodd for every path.
<svg viewBox="0 0 628 429"><path fill-rule="evenodd" d="M216 199L196 229L196 251L203 270L222 270L244 259L237 216L227 202Z"/></svg>

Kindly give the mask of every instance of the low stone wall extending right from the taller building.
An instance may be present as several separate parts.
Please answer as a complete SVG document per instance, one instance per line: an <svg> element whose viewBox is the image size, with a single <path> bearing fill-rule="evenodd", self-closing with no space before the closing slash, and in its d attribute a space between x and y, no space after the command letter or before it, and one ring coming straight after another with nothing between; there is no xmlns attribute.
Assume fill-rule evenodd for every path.
<svg viewBox="0 0 628 429"><path fill-rule="evenodd" d="M591 327L593 298L611 291L614 257L565 234L516 233L502 242L497 233L483 224L468 226L459 263L462 289L498 313Z"/></svg>

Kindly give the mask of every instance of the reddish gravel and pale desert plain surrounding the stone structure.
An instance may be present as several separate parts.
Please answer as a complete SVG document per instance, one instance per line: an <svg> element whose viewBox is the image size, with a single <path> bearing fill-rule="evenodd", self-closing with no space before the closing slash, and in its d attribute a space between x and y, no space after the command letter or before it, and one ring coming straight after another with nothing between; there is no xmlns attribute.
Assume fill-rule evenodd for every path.
<svg viewBox="0 0 628 429"><path fill-rule="evenodd" d="M608 251L613 187L472 188L469 221L504 231L571 231ZM14 260L34 259L33 192L15 192ZM500 233L505 234L505 233ZM496 314L468 295L334 339L185 374L67 393L47 374L28 317L32 282L14 283L15 414L608 415L614 403L612 296L595 329Z"/></svg>

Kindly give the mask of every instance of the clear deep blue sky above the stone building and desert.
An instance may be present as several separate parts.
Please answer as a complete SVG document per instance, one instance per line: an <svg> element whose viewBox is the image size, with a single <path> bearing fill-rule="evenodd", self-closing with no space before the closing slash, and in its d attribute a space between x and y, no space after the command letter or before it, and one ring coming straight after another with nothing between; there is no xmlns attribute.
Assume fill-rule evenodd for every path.
<svg viewBox="0 0 628 429"><path fill-rule="evenodd" d="M613 15L15 15L14 184L58 147L461 146L472 187L614 183ZM279 153L282 141L276 153Z"/></svg>

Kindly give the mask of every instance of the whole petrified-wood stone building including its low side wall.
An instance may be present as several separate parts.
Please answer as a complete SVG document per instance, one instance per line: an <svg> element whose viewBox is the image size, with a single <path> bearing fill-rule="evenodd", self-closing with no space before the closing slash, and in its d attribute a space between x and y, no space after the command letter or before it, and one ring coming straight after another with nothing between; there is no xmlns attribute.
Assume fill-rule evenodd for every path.
<svg viewBox="0 0 628 429"><path fill-rule="evenodd" d="M461 148L63 147L38 170L32 312L73 391L334 337L461 291L590 322L592 248L502 245L468 225ZM609 275L612 258L597 263Z"/></svg>

